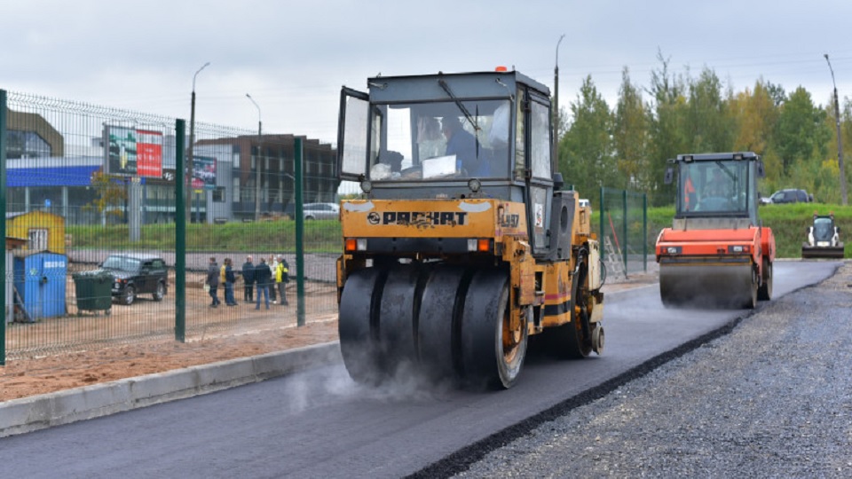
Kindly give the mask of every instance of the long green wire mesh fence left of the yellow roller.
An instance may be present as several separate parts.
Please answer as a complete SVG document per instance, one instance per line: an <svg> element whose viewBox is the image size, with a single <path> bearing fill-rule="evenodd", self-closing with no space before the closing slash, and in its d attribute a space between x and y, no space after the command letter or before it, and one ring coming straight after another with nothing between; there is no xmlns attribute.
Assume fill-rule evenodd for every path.
<svg viewBox="0 0 852 479"><path fill-rule="evenodd" d="M0 364L335 318L335 154L304 137L0 90ZM126 268L104 264L126 255ZM269 309L255 309L256 285L248 301L249 256L288 264L287 304L274 274ZM235 305L220 286L211 307L210 258L217 277L230 260Z"/></svg>

